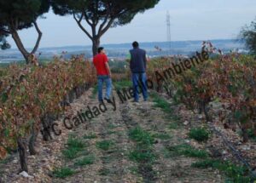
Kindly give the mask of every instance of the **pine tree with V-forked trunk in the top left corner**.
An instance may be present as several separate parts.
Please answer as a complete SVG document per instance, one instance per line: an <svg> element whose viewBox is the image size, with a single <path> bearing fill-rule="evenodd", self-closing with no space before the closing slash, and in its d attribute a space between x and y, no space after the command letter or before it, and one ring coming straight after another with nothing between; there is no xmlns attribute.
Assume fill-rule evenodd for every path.
<svg viewBox="0 0 256 183"><path fill-rule="evenodd" d="M49 0L0 0L0 35L11 35L21 54L28 61L30 54L37 51L42 32L37 20L42 14L49 11ZM32 52L29 53L20 40L17 31L34 26L38 31L38 40Z"/></svg>

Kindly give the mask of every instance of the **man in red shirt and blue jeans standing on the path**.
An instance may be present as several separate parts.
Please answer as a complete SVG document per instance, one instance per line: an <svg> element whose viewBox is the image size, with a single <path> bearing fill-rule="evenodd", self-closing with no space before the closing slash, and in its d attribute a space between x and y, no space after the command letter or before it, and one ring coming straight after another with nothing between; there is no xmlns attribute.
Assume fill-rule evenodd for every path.
<svg viewBox="0 0 256 183"><path fill-rule="evenodd" d="M98 100L102 103L102 86L106 83L106 97L105 100L111 103L110 95L112 91L111 71L108 66L108 57L105 54L103 47L98 48L98 54L93 58L93 64L96 67L97 78L98 78Z"/></svg>

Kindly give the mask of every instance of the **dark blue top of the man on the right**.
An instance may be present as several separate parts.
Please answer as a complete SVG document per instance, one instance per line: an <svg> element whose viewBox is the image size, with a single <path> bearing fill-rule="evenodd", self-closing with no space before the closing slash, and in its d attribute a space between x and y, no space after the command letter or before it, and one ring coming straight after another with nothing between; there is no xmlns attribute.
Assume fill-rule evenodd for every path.
<svg viewBox="0 0 256 183"><path fill-rule="evenodd" d="M143 73L146 71L146 51L143 49L131 49L130 68L132 73Z"/></svg>

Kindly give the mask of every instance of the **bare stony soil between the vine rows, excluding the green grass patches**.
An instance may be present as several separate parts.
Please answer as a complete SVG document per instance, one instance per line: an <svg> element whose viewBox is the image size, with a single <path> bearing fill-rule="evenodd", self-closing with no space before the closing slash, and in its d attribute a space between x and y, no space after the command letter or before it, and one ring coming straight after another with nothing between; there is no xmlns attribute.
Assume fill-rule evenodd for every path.
<svg viewBox="0 0 256 183"><path fill-rule="evenodd" d="M92 89L75 100L66 116L75 115L87 106L98 106L96 99L91 99ZM224 176L213 169L196 169L191 163L198 161L198 158L185 156L166 156L168 146L176 146L188 143L195 148L204 149L207 145L201 145L194 140L188 140L188 131L191 127L183 124L184 120L190 120L187 115L181 113L177 107L175 112L181 118L176 129L171 129L172 120L166 118L165 112L154 106L150 99L147 102L140 101L132 103L131 100L122 104L114 92L116 111L113 106L106 104L108 111L91 120L89 125L80 124L73 130L64 128L63 118L59 123L62 133L54 136L54 140L45 142L41 135L38 137L38 155L29 156L29 174L33 178L23 178L19 175L18 155L8 158L6 163L0 164L0 182L23 183L100 183L100 182L224 182ZM143 130L154 135L153 152L156 160L151 165L148 163L137 163L131 161L129 153L136 148L136 142L129 138L129 130L139 125ZM86 144L86 154L93 155L93 164L76 167L74 162L81 157L67 160L61 151L66 148L69 134L83 140ZM95 138L84 138L84 136L95 135ZM110 141L108 150L98 148L97 143ZM208 151L208 150L207 150ZM85 152L84 152L85 153ZM55 178L52 171L59 167L69 167L76 171L75 174L65 179Z"/></svg>

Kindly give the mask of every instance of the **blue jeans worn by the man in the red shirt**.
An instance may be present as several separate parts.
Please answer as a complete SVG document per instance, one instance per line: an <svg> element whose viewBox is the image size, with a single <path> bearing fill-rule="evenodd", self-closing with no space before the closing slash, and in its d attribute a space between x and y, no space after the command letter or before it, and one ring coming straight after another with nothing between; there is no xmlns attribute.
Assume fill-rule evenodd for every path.
<svg viewBox="0 0 256 183"><path fill-rule="evenodd" d="M102 88L103 83L106 83L107 89L106 89L106 98L110 99L111 91L112 91L112 81L111 78L108 76L98 76L98 100L103 100L102 97Z"/></svg>

